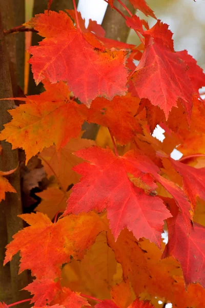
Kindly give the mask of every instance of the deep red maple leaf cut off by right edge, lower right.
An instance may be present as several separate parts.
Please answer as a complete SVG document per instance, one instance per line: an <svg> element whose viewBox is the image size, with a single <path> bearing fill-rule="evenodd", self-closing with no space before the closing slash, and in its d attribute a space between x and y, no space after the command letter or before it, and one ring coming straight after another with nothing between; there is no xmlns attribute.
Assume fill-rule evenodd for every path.
<svg viewBox="0 0 205 308"><path fill-rule="evenodd" d="M169 241L162 258L172 256L180 262L186 285L199 282L205 287L205 227L194 223L188 236L178 208L170 205L173 218L167 220Z"/></svg>

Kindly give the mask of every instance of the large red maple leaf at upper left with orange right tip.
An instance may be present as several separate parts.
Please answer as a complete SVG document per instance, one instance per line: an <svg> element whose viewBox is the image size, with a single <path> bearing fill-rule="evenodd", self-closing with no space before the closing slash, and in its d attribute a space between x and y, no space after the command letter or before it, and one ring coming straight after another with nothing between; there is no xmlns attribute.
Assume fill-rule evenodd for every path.
<svg viewBox="0 0 205 308"><path fill-rule="evenodd" d="M51 83L66 81L87 106L97 96L111 100L115 95L126 94L125 64L129 51L106 49L93 33L74 27L71 18L62 11L49 14L45 11L26 25L46 37L39 46L29 48L36 84L44 78Z"/></svg>

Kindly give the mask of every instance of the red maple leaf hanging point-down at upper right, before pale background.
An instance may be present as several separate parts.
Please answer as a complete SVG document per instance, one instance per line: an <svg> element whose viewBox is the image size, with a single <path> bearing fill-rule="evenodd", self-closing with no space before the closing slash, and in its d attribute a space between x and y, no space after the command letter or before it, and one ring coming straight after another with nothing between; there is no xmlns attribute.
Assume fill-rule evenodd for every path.
<svg viewBox="0 0 205 308"><path fill-rule="evenodd" d="M139 97L159 106L166 119L180 99L190 120L195 91L186 73L185 62L174 52L171 31L166 24L158 21L144 32L144 36L145 51L132 76Z"/></svg>

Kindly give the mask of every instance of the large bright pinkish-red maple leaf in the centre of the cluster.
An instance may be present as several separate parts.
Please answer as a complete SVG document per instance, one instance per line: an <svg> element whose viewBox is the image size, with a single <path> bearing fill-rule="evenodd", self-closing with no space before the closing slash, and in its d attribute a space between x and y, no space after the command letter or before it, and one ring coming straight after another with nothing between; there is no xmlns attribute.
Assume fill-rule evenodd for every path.
<svg viewBox="0 0 205 308"><path fill-rule="evenodd" d="M156 188L153 179L145 173L151 167L156 172L158 167L144 163L141 171L130 163L129 154L132 156L132 151L124 157L116 157L110 149L96 146L77 151L76 156L91 164L85 162L73 168L83 177L74 185L64 215L93 209L101 212L106 208L115 240L120 231L128 227L137 239L145 237L160 246L163 220L170 217L170 213L161 199L140 188L144 187L147 192ZM137 157L135 161L139 165ZM138 187L128 174L133 175L132 180Z"/></svg>

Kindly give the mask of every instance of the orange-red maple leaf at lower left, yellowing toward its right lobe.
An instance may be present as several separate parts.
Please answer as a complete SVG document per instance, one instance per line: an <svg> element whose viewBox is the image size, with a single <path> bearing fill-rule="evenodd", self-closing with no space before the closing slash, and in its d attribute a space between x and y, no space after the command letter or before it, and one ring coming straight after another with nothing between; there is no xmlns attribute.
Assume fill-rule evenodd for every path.
<svg viewBox="0 0 205 308"><path fill-rule="evenodd" d="M101 225L97 215L68 216L52 223L42 213L22 214L29 227L20 230L7 245L4 264L20 251L19 273L31 269L37 279L55 279L60 276L60 266L69 262L70 256L81 258L89 248Z"/></svg>

